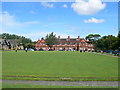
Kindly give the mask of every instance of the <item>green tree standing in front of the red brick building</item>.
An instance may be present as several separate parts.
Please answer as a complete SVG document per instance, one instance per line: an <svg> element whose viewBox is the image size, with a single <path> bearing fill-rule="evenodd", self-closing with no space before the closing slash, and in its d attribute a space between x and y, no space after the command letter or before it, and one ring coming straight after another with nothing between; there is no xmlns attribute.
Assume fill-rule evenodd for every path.
<svg viewBox="0 0 120 90"><path fill-rule="evenodd" d="M58 44L58 39L56 37L56 35L52 33L47 34L47 36L45 37L45 43L52 48L54 44Z"/></svg>

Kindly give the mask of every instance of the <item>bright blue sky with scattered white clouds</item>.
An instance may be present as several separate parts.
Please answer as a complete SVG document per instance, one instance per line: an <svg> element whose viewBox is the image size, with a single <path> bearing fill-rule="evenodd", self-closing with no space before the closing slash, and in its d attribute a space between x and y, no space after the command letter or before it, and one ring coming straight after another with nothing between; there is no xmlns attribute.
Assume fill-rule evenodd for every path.
<svg viewBox="0 0 120 90"><path fill-rule="evenodd" d="M118 33L117 2L3 2L0 17L2 33L22 35L33 41L51 32L61 38Z"/></svg>

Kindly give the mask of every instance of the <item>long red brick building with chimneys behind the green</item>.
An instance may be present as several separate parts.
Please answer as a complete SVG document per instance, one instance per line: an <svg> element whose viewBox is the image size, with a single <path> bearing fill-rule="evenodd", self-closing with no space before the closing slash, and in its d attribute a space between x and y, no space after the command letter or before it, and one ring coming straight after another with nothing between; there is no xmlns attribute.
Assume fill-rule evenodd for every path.
<svg viewBox="0 0 120 90"><path fill-rule="evenodd" d="M53 45L53 50L94 50L93 44L89 44L88 41L80 38L80 36L78 36L78 38L70 38L70 36L68 36L68 38L60 38L60 36L58 36L58 41L59 44ZM50 49L49 46L45 44L44 38L41 38L41 40L38 40L35 44L35 49L39 50L41 48L44 50Z"/></svg>

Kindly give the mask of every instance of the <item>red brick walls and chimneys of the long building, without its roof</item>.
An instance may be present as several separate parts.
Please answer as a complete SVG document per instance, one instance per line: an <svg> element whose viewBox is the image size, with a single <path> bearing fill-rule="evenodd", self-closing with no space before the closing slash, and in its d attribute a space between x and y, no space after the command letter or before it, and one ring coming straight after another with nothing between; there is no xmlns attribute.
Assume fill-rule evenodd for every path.
<svg viewBox="0 0 120 90"><path fill-rule="evenodd" d="M70 36L68 36L68 38L66 38L66 42L67 40L71 40L72 38L70 38ZM58 40L60 41L60 36L58 36ZM76 42L77 40L80 40L80 37L78 36L78 38L76 38ZM60 41L61 42L61 41ZM45 45L45 40L42 38L41 40L38 40L35 44L35 49L39 50L39 49L44 49L44 50L49 50L49 46ZM59 44L59 45L53 45L52 49L53 50L94 50L93 49L94 46L93 44L88 44L87 41L85 41L84 39L81 39L81 41L79 43L75 43L75 44Z"/></svg>

